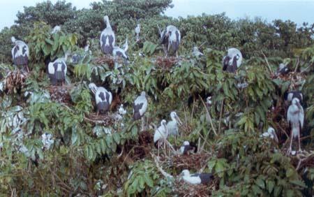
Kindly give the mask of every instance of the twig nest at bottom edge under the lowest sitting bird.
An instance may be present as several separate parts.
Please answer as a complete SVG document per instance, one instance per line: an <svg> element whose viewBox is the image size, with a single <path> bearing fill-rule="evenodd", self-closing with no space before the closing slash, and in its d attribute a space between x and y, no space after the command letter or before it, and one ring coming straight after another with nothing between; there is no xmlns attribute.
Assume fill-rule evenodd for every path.
<svg viewBox="0 0 314 197"><path fill-rule="evenodd" d="M214 180L209 185L204 184L188 184L183 180L174 182L174 193L184 197L205 197L211 196L211 191L216 191L218 182Z"/></svg>

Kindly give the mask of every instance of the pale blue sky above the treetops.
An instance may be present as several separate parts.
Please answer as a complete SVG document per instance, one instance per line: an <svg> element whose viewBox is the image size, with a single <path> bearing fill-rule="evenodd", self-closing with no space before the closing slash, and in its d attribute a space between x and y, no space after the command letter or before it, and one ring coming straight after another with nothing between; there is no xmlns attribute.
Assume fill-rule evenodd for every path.
<svg viewBox="0 0 314 197"><path fill-rule="evenodd" d="M0 29L9 27L23 6L35 6L45 0L0 0ZM57 0L52 0L56 2ZM88 8L95 0L67 0L77 8ZM99 1L99 0L98 0ZM271 22L274 19L314 23L314 0L173 0L174 8L166 11L172 17L217 14L225 12L232 19L262 17Z"/></svg>

